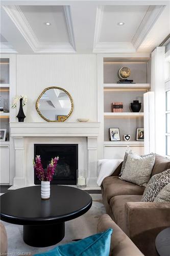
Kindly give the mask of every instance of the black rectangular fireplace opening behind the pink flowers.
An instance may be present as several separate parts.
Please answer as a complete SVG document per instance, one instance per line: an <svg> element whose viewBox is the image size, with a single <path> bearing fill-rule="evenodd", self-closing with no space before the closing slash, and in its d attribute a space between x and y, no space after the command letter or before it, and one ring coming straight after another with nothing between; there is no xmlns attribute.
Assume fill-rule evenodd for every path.
<svg viewBox="0 0 170 256"><path fill-rule="evenodd" d="M52 158L59 156L51 184L76 185L78 169L78 144L34 144L34 160L41 157L43 168L47 168ZM34 172L34 184L40 180Z"/></svg>

